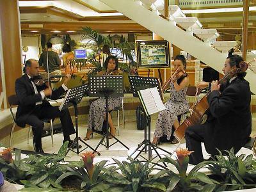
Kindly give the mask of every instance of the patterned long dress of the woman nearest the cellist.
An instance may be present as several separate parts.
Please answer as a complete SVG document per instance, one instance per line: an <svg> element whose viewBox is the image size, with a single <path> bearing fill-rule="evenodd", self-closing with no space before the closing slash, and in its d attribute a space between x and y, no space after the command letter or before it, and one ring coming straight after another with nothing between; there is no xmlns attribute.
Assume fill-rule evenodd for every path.
<svg viewBox="0 0 256 192"><path fill-rule="evenodd" d="M171 97L164 104L166 109L158 113L156 130L154 133L155 138L159 138L165 134L167 139L170 140L172 125L175 120L177 120L177 116L186 113L189 109L189 103L186 100L187 90L188 87L186 86L177 92L174 88L174 84L170 83Z"/></svg>

